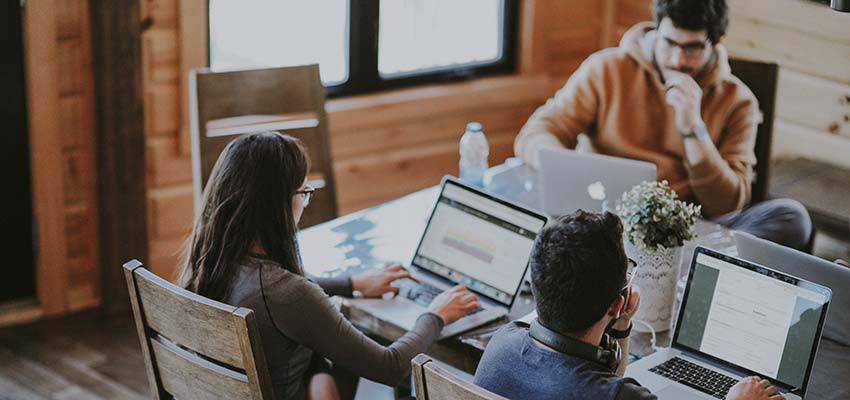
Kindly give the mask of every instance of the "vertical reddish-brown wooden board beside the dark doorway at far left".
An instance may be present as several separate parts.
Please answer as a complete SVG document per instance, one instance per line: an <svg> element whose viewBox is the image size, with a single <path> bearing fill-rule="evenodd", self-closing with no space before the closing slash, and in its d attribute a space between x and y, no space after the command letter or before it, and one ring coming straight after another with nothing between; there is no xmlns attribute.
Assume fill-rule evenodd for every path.
<svg viewBox="0 0 850 400"><path fill-rule="evenodd" d="M68 263L64 297L65 311L74 311L100 301L90 15L86 0L55 4Z"/></svg>

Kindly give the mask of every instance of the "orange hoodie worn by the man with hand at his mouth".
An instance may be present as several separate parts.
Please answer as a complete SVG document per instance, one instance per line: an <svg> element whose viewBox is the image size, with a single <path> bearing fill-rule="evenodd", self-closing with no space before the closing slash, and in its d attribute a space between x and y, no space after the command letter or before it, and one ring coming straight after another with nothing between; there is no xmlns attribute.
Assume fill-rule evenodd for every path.
<svg viewBox="0 0 850 400"><path fill-rule="evenodd" d="M654 25L640 23L619 47L599 51L582 63L566 85L523 126L515 153L538 167L542 146L575 148L586 133L597 152L644 160L658 166L658 178L670 182L679 197L702 204L716 217L744 207L750 199L756 159L758 103L734 77L726 48L715 46L715 62L697 77L703 90L702 119L718 154L689 165L675 111L652 65Z"/></svg>

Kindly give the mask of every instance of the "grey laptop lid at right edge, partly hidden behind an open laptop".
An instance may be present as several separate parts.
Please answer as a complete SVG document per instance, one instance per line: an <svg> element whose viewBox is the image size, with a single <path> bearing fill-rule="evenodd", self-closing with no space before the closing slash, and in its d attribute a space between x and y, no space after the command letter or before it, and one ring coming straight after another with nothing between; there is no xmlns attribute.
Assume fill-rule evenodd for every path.
<svg viewBox="0 0 850 400"><path fill-rule="evenodd" d="M828 286L833 290L833 309L850 309L850 268L749 233L735 231L732 236L738 245L739 257ZM830 313L824 323L823 337L850 346L850 313Z"/></svg>

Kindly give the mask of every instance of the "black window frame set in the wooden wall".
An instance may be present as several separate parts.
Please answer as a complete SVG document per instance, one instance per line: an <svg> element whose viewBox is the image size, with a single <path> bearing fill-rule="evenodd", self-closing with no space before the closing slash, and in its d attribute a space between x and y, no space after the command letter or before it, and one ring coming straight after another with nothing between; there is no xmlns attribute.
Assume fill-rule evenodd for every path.
<svg viewBox="0 0 850 400"><path fill-rule="evenodd" d="M211 19L207 1L207 38L211 37ZM391 0L387 0L391 1ZM378 71L378 32L381 0L349 0L348 4L348 79L341 84L325 86L327 96L344 97L383 90L451 83L492 75L507 75L517 70L520 2L503 0L502 56L490 63L438 68L426 72L410 72L382 78ZM353 21L368 21L353 23ZM212 61L212 43L207 42L207 65Z"/></svg>

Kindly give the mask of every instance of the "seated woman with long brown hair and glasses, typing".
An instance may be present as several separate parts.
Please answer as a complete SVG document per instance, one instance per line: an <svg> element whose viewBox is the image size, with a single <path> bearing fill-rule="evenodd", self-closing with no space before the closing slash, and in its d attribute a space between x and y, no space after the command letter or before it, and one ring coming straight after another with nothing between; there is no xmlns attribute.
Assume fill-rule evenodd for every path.
<svg viewBox="0 0 850 400"><path fill-rule="evenodd" d="M178 283L254 310L278 398L352 398L358 376L400 383L410 360L478 300L461 286L446 291L387 347L355 329L329 296L379 297L409 275L393 265L350 277L305 276L297 225L314 191L306 183L309 167L300 142L287 135L265 132L231 142L204 189Z"/></svg>

